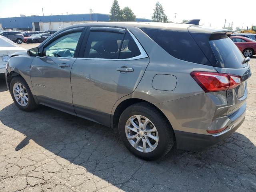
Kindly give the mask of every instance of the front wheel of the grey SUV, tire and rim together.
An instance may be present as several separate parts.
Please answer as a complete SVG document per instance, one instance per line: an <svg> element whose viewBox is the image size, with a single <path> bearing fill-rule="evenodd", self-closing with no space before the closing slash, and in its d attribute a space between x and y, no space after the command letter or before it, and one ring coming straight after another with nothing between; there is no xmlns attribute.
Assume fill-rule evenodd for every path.
<svg viewBox="0 0 256 192"><path fill-rule="evenodd" d="M12 78L10 82L10 93L12 100L21 110L32 111L38 106L28 87L28 84L20 76Z"/></svg>

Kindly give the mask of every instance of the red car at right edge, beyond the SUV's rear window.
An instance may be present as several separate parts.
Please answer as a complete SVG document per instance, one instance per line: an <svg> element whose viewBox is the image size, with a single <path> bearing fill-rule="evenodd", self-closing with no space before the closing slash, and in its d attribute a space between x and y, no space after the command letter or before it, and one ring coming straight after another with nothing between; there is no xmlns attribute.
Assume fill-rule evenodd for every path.
<svg viewBox="0 0 256 192"><path fill-rule="evenodd" d="M247 37L230 37L245 57L252 57L256 54L256 41Z"/></svg>

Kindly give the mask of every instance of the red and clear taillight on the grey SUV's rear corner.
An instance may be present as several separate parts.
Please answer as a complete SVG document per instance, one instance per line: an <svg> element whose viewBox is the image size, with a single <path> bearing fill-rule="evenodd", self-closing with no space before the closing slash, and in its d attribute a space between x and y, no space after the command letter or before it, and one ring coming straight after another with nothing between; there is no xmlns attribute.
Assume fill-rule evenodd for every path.
<svg viewBox="0 0 256 192"><path fill-rule="evenodd" d="M205 92L233 89L242 82L240 76L226 73L194 71L190 75Z"/></svg>

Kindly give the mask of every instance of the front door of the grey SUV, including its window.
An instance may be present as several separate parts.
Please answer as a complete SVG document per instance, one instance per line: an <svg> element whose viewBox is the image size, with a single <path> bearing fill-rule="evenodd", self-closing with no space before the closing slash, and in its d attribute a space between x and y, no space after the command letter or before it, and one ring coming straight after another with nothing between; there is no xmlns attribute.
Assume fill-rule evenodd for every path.
<svg viewBox="0 0 256 192"><path fill-rule="evenodd" d="M38 102L74 113L70 72L76 58L76 47L82 32L60 34L43 48L42 56L31 64L31 81Z"/></svg>

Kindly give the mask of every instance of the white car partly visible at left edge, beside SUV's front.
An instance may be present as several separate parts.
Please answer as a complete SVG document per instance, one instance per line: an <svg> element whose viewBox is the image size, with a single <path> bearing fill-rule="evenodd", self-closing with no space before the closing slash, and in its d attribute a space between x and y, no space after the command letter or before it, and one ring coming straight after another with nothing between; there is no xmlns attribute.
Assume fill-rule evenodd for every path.
<svg viewBox="0 0 256 192"><path fill-rule="evenodd" d="M26 51L26 49L19 47L10 39L0 36L0 74L5 73L6 64L8 62L8 55L15 52Z"/></svg>

